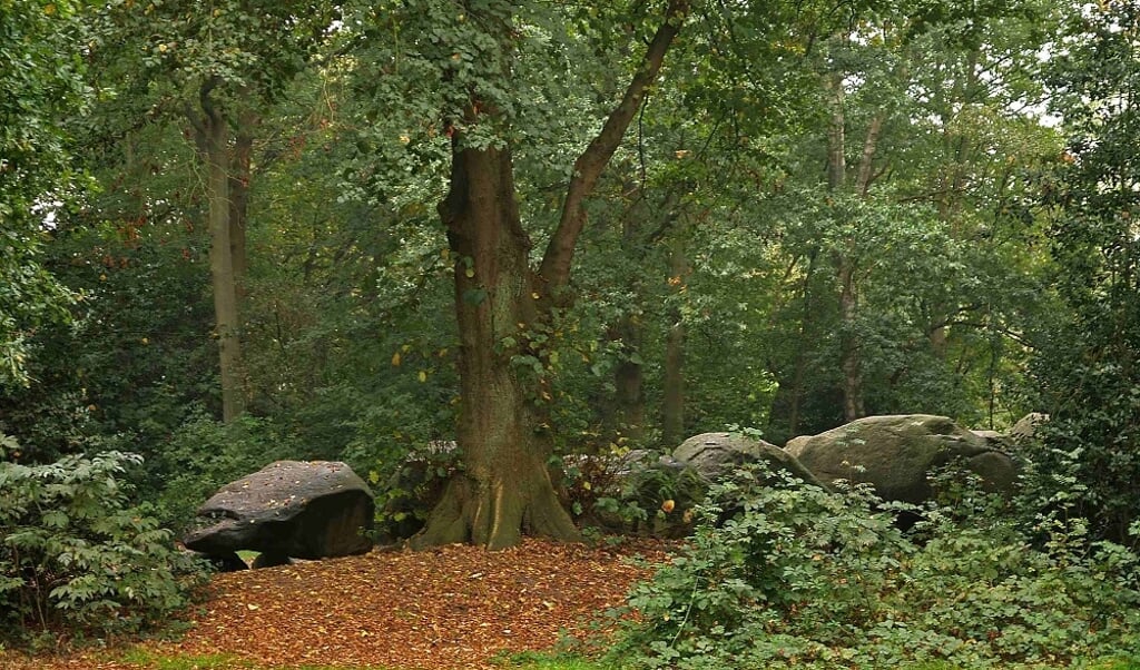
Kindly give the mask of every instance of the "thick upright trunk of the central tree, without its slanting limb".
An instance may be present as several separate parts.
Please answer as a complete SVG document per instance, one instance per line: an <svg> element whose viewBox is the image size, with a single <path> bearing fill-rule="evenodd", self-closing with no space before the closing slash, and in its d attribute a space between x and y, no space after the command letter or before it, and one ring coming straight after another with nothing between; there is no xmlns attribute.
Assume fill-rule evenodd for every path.
<svg viewBox="0 0 1140 670"><path fill-rule="evenodd" d="M575 540L578 530L546 466L549 426L540 406L542 373L535 369L545 353L528 336L542 330L544 320L510 153L456 148L451 190L440 214L458 259L457 438L464 468L451 477L413 546L470 541L498 549L518 544L523 532Z"/></svg>

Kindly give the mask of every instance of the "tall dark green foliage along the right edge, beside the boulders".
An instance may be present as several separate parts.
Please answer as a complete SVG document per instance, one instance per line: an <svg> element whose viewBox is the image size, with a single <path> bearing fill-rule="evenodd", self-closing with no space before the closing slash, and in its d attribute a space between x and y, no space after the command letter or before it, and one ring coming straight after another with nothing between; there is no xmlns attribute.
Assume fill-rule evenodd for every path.
<svg viewBox="0 0 1140 670"><path fill-rule="evenodd" d="M1062 44L1049 75L1070 134L1042 206L1067 309L1035 361L1052 417L1035 483L1044 500L1074 502L1094 534L1129 541L1140 518L1140 5L1074 17Z"/></svg>

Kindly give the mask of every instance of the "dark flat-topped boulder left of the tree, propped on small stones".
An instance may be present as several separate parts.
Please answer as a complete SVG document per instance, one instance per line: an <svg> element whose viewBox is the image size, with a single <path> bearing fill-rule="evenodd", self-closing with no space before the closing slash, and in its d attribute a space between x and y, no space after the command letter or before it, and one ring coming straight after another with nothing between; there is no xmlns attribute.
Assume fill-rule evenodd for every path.
<svg viewBox="0 0 1140 670"><path fill-rule="evenodd" d="M219 489L184 542L209 556L260 551L259 566L363 554L372 548L363 531L373 508L372 491L348 465L278 460Z"/></svg>

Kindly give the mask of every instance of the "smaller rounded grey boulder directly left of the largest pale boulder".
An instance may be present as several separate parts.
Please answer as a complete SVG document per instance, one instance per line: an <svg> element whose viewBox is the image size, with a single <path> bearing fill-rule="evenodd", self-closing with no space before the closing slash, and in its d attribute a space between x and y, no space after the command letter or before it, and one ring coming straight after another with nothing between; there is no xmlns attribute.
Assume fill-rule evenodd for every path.
<svg viewBox="0 0 1140 670"><path fill-rule="evenodd" d="M673 457L695 469L709 482L724 477L741 465L766 463L773 472L783 469L806 483L824 485L809 468L804 467L788 451L740 433L694 435L674 449Z"/></svg>

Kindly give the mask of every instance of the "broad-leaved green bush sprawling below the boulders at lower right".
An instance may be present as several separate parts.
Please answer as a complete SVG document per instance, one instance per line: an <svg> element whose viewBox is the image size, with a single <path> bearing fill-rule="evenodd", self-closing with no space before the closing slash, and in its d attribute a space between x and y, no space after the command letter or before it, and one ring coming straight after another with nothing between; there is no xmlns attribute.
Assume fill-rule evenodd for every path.
<svg viewBox="0 0 1140 670"><path fill-rule="evenodd" d="M903 533L888 507L866 489L741 471L701 507L691 544L635 588L638 614L611 656L676 669L1016 668L1140 649L1138 559L1124 547L1053 518L1035 545L1012 522L934 504Z"/></svg>

